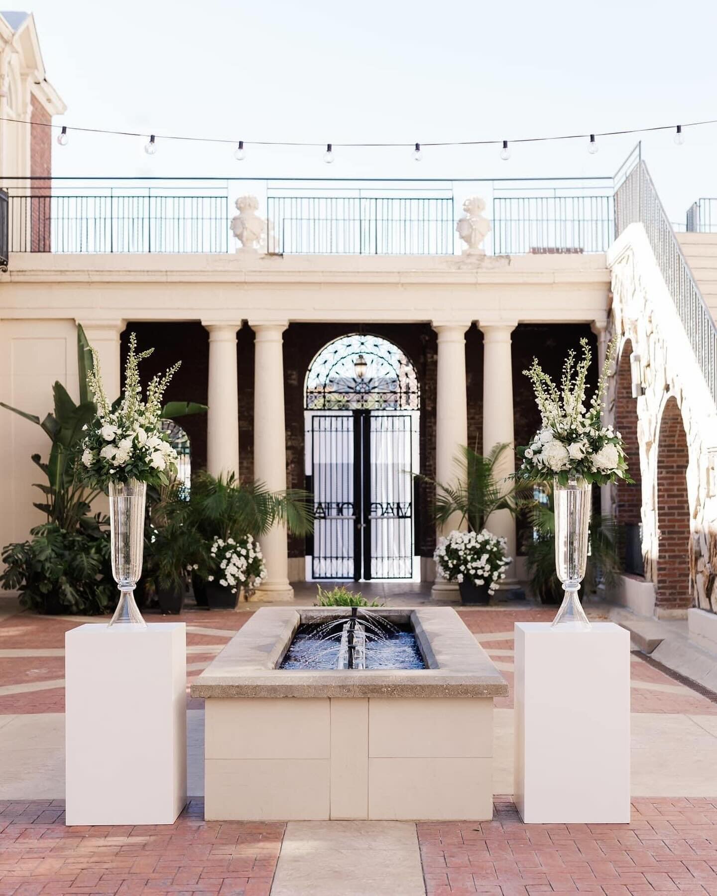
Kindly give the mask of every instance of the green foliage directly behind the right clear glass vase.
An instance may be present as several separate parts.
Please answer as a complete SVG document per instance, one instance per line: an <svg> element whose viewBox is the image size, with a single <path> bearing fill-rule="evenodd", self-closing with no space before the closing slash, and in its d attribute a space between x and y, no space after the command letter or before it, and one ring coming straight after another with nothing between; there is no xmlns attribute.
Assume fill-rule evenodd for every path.
<svg viewBox="0 0 717 896"><path fill-rule="evenodd" d="M533 504L529 512L534 537L526 554L531 585L543 603L559 603L563 586L555 572L555 509L552 490L548 504ZM581 595L592 594L600 581L613 585L620 571L618 528L611 517L593 516L590 549Z"/></svg>

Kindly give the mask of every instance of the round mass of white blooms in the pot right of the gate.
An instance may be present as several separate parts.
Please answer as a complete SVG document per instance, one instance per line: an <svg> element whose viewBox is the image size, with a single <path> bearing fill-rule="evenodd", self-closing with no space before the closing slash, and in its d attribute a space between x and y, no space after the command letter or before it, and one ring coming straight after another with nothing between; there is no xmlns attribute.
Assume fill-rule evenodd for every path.
<svg viewBox="0 0 717 896"><path fill-rule="evenodd" d="M505 569L512 562L512 557L505 556L505 538L487 529L449 532L438 539L433 559L444 579L488 585L488 594L493 594L498 582L505 579Z"/></svg>

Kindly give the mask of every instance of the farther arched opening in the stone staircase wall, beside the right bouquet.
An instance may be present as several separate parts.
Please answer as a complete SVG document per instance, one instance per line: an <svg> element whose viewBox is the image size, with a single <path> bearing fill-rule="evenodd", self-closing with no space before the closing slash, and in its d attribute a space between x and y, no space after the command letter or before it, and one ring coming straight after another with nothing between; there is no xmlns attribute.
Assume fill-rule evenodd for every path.
<svg viewBox="0 0 717 896"><path fill-rule="evenodd" d="M615 428L622 435L630 476L635 485L618 480L615 516L620 561L626 573L644 575L642 551L642 479L637 438L637 400L633 394L630 359L633 345L626 340L620 353L615 383Z"/></svg>

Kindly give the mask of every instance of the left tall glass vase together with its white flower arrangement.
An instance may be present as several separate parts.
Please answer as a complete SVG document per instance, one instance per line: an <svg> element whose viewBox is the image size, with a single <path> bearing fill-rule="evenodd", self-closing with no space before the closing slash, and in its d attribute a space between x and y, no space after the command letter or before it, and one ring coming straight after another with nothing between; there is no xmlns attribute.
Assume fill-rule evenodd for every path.
<svg viewBox="0 0 717 896"><path fill-rule="evenodd" d="M80 469L83 478L109 492L109 524L112 574L120 599L109 625L144 625L134 602L134 587L142 575L144 506L147 485L167 485L177 474L177 452L160 426L161 399L176 364L164 375L152 377L143 401L139 363L153 349L137 353L137 338L129 339L125 366L125 390L110 404L92 349L92 369L87 380L97 405L97 417L86 426Z"/></svg>

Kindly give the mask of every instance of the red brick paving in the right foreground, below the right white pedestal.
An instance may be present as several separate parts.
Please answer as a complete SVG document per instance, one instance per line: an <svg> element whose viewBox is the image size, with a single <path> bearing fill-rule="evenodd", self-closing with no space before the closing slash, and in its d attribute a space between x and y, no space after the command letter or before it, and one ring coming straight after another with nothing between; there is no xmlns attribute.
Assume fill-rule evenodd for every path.
<svg viewBox="0 0 717 896"><path fill-rule="evenodd" d="M509 797L491 822L419 822L428 896L717 894L717 798L635 799L629 824L523 824Z"/></svg>

